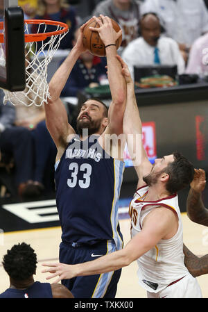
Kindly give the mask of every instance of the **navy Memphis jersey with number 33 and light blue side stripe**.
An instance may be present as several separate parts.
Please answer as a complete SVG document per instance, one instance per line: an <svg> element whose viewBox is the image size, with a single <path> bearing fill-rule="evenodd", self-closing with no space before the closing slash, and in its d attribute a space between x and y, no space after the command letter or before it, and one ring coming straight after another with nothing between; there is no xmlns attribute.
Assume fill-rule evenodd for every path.
<svg viewBox="0 0 208 312"><path fill-rule="evenodd" d="M73 138L55 164L62 241L92 245L114 240L121 249L119 194L124 163L107 155L98 136Z"/></svg>

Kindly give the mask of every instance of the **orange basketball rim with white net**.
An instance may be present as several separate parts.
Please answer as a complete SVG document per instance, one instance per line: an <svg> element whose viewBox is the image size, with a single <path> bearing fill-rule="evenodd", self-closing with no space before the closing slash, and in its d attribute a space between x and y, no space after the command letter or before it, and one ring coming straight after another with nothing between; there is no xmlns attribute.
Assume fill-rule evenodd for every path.
<svg viewBox="0 0 208 312"><path fill-rule="evenodd" d="M67 34L68 26L62 22L44 19L26 19L25 24L25 53L26 53L26 88L24 91L10 92L3 90L5 97L3 104L10 101L13 105L41 106L46 103L49 95L47 83L47 69L60 41ZM30 26L37 24L37 33L30 33ZM55 31L47 32L47 25L56 27ZM0 23L3 29L3 22ZM41 31L41 32L40 32ZM46 40L47 39L47 40ZM46 40L44 42L44 40ZM5 65L3 51L3 33L0 33L0 64ZM18 60L17 60L18 62Z"/></svg>

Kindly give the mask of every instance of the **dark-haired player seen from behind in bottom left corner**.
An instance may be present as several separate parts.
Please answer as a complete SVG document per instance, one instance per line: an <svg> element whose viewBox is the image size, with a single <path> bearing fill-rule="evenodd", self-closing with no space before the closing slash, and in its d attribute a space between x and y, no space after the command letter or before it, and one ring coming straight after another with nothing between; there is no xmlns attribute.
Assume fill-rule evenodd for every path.
<svg viewBox="0 0 208 312"><path fill-rule="evenodd" d="M26 243L14 245L3 256L3 268L10 277L10 288L0 294L1 298L73 298L62 284L34 281L37 255Z"/></svg>

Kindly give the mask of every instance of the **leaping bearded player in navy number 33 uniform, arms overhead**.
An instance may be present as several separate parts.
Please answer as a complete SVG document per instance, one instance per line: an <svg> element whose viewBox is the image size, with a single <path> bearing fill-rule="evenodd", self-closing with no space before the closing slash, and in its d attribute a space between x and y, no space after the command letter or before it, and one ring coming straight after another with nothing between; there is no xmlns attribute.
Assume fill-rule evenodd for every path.
<svg viewBox="0 0 208 312"><path fill-rule="evenodd" d="M121 63L116 58L116 33L110 18L94 17L105 44L107 74L112 102L107 107L98 99L83 103L77 130L68 123L60 93L83 47L83 28L75 47L49 83L51 98L45 104L46 125L58 149L55 163L56 203L62 227L60 262L82 263L123 247L119 227L118 200L124 163L121 141L110 136L123 133L126 86ZM118 153L116 153L118 151ZM116 156L114 155L116 154ZM114 156L114 157L113 157ZM114 297L121 270L64 280L74 297Z"/></svg>

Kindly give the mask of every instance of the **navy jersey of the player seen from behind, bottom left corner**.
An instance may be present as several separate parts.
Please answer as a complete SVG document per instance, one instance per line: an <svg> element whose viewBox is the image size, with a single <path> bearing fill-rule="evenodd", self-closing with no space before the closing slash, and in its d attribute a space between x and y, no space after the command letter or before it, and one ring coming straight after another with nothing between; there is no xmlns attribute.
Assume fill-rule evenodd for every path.
<svg viewBox="0 0 208 312"><path fill-rule="evenodd" d="M30 287L20 290L8 288L0 294L0 298L53 298L51 284L35 281Z"/></svg>

